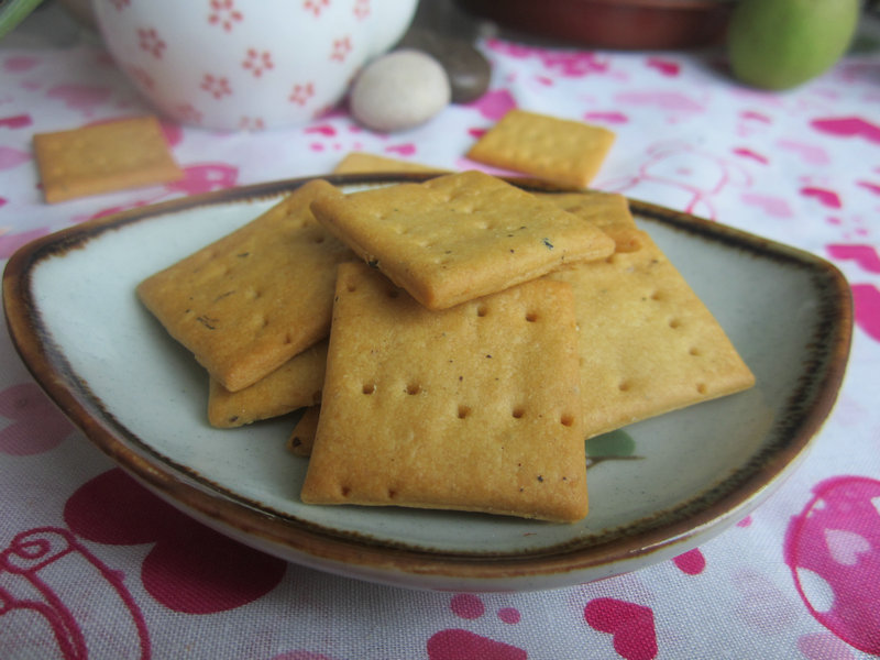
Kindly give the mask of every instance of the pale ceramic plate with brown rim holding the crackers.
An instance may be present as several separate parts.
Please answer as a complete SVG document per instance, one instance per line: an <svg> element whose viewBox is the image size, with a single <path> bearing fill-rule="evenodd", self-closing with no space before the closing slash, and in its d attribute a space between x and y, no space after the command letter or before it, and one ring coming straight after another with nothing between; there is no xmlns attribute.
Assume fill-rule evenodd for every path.
<svg viewBox="0 0 880 660"><path fill-rule="evenodd" d="M424 175L329 177L345 190ZM848 287L831 264L632 201L637 222L716 315L757 376L748 392L591 440L575 525L307 506L293 417L206 422L207 380L135 285L253 219L304 179L135 209L43 238L3 275L7 322L36 381L105 453L213 528L293 562L387 584L550 588L682 553L746 516L802 458L849 350Z"/></svg>

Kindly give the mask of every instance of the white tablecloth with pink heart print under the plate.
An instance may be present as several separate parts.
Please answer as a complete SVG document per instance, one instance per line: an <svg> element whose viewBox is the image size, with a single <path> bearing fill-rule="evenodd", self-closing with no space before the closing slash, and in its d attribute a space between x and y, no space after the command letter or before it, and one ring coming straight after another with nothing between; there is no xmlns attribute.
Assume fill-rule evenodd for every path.
<svg viewBox="0 0 880 660"><path fill-rule="evenodd" d="M26 29L26 24L23 26ZM880 653L880 54L783 94L719 53L591 52L484 36L488 91L380 135L340 109L280 131L165 123L182 182L44 204L37 132L148 112L100 40L0 43L0 258L89 218L329 172L351 151L444 168L519 107L613 129L595 187L834 262L855 329L836 408L749 517L674 560L528 593L437 593L287 564L142 490L74 428L0 333L0 658L834 658ZM13 33L14 35L14 33ZM868 40L870 41L870 40ZM861 42L866 42L862 40ZM791 538L800 535L794 552ZM800 534L800 532L799 532ZM43 546L62 548L41 554ZM795 560L795 557L798 558ZM798 562L798 565L795 565ZM804 566L812 566L806 570ZM798 578L795 580L795 576ZM845 592L829 586L848 585Z"/></svg>

